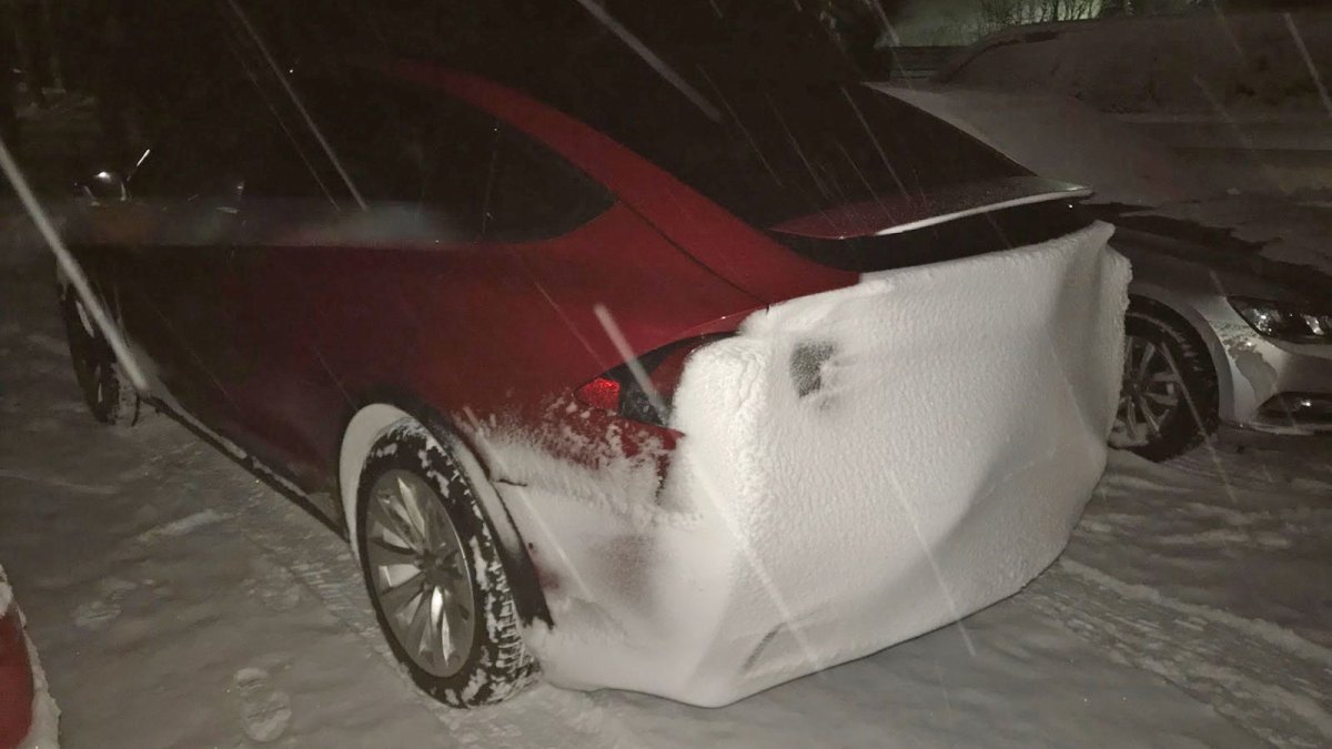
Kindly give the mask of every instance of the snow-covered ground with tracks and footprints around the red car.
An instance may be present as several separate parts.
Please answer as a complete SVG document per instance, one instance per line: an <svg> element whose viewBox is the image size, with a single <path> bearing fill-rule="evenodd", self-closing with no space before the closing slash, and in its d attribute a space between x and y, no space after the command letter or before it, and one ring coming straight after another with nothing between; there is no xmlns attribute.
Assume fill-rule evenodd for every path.
<svg viewBox="0 0 1332 749"><path fill-rule="evenodd" d="M0 557L73 749L1332 745L1327 441L1116 456L1024 592L729 708L460 713L393 665L332 532L169 418L96 425L47 276L0 264Z"/></svg>

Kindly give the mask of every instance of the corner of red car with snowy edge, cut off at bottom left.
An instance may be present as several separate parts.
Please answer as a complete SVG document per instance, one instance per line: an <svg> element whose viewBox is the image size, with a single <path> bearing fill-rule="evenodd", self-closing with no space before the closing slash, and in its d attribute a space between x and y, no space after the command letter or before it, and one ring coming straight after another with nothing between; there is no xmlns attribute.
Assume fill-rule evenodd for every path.
<svg viewBox="0 0 1332 749"><path fill-rule="evenodd" d="M0 749L57 749L59 714L0 568Z"/></svg>

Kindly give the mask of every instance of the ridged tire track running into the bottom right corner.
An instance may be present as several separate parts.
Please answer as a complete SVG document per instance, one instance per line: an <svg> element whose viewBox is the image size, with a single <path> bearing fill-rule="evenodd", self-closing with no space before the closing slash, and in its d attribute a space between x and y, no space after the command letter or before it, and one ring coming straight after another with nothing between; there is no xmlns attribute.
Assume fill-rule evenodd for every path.
<svg viewBox="0 0 1332 749"><path fill-rule="evenodd" d="M1332 745L1332 650L1265 621L1177 601L1063 560L1023 593L1088 642L1276 746Z"/></svg>

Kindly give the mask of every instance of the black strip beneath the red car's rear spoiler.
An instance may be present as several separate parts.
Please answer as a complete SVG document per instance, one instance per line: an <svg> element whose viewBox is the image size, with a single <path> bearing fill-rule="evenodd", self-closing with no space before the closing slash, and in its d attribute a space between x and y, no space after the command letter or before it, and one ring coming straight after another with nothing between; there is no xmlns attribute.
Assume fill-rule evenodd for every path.
<svg viewBox="0 0 1332 749"><path fill-rule="evenodd" d="M770 232L770 236L823 265L870 273L1039 244L1083 229L1092 221L1076 201L1052 201L976 213L891 235L818 239Z"/></svg>

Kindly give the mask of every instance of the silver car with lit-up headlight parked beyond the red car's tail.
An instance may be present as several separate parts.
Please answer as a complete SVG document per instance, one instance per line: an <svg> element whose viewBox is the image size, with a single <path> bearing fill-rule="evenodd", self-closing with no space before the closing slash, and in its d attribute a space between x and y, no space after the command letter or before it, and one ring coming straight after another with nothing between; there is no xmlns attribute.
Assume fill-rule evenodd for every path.
<svg viewBox="0 0 1332 749"><path fill-rule="evenodd" d="M1265 257L1276 253L1225 229L1233 205L1207 211L1207 188L1168 149L1072 99L876 88L1036 173L1098 191L1088 211L1118 227L1112 244L1134 265L1115 446L1166 460L1220 424L1332 430L1332 259L1319 273Z"/></svg>

